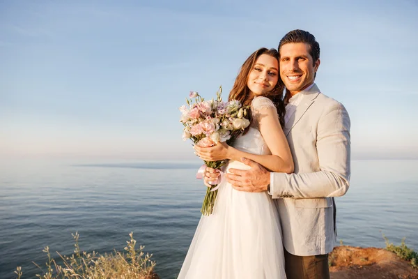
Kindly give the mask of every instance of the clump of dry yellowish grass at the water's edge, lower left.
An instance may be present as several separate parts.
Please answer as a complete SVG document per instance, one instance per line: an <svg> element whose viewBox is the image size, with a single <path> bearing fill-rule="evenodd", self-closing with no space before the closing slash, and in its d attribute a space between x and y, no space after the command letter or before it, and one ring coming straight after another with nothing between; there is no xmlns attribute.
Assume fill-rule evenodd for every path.
<svg viewBox="0 0 418 279"><path fill-rule="evenodd" d="M135 249L137 243L133 238L133 233L129 234L130 240L126 241L126 252L114 252L111 254L100 255L97 252L81 252L79 249L79 234L72 234L75 240L74 253L61 257L63 264L57 264L52 259L49 247L45 247L42 252L47 253L48 260L45 263L45 269L39 267L41 274L37 274L37 278L42 279L61 279L61 278L82 278L82 279L157 279L159 278L154 272L155 262L150 258L152 255L144 254L144 246L140 246L139 250ZM35 264L35 263L34 263ZM22 277L22 269L17 266L15 271L17 278Z"/></svg>

